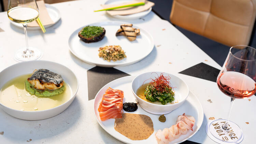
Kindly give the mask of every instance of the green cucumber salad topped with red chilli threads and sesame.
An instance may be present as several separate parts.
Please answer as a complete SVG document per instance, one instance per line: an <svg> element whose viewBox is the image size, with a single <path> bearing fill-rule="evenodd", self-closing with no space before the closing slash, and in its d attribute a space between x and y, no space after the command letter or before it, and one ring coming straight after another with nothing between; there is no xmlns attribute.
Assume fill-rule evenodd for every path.
<svg viewBox="0 0 256 144"><path fill-rule="evenodd" d="M170 86L170 77L161 73L155 80L148 83L144 95L151 102L159 101L162 104L174 101L174 92Z"/></svg>

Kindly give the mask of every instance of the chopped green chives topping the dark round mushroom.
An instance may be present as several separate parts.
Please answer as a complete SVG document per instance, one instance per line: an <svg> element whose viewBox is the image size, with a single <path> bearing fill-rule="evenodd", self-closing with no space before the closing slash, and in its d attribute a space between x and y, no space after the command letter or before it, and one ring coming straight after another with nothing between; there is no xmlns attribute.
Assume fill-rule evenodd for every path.
<svg viewBox="0 0 256 144"><path fill-rule="evenodd" d="M104 30L102 27L87 26L83 28L80 34L86 38L91 38L91 37L98 37L103 31Z"/></svg>

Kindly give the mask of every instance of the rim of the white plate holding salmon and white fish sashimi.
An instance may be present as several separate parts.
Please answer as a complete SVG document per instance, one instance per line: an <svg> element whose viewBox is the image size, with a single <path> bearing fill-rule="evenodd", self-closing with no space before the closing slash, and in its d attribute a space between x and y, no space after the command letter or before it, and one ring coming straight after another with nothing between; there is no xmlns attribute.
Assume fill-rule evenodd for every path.
<svg viewBox="0 0 256 144"><path fill-rule="evenodd" d="M113 81L109 82L109 83L106 84L106 85L109 85L110 83L119 81L120 79L123 79L123 78L130 78L130 79L133 80L136 76L137 76L137 75L129 75L129 76L120 77L120 78L117 78L116 80L113 80ZM132 81L132 80L131 80L131 81ZM104 85L104 86L97 92L95 98L97 97L97 95L99 94L99 92L100 92L106 85ZM191 93L192 95L194 95L194 93L191 92L191 91L189 91L189 93ZM198 132L198 130L200 129L200 127L202 126L203 118L204 118L203 107L202 107L202 104L200 103L199 99L198 99L195 95L194 95L194 97L195 97L195 100L197 100L198 103L200 104L200 105L198 105L198 106L200 107L200 109L197 109L197 110L198 110L198 128L197 128L196 131L195 131L193 134L191 134L188 138L186 138L186 139L184 139L184 140L182 140L182 141L180 141L180 142L177 142L177 143L175 143L175 144L179 144L179 143L182 143L182 142L188 140L189 138L191 138L192 136L194 136L194 135ZM93 112L94 112L94 116L95 116L95 118L96 118L98 124L101 126L101 128L103 128L108 134L110 134L111 136L113 136L115 139L117 139L117 140L119 140L119 141L121 141L121 142L127 143L126 141L124 141L124 140L122 140L122 139L119 139L117 136L112 135L112 134L100 123L100 121L99 121L99 119L97 118L96 113L95 113L95 105L96 105L95 98L94 98L94 103L93 103ZM201 117L199 116L200 113L201 113ZM200 121L199 121L199 118L201 119Z"/></svg>

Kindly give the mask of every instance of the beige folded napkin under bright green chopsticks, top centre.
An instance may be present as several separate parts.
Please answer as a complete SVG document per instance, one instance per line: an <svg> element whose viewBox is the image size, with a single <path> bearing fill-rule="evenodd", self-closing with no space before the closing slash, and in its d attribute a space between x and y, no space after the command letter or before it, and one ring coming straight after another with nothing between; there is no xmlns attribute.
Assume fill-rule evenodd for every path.
<svg viewBox="0 0 256 144"><path fill-rule="evenodd" d="M125 3L120 3L120 4L105 4L105 5L101 5L101 7L103 9L107 9L107 8L112 8L112 7L116 7L116 6L138 3L138 2L145 2L145 5L114 9L114 10L110 10L110 11L106 11L106 12L110 15L135 14L135 13L146 11L149 8L151 8L152 6L155 5L155 3L147 1L147 0L133 0L133 1L130 1L130 2L125 2Z"/></svg>

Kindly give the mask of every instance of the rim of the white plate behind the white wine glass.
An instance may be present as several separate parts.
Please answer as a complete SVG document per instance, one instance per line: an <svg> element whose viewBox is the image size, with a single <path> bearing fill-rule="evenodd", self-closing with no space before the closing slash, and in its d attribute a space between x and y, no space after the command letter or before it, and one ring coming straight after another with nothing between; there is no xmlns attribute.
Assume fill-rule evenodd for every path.
<svg viewBox="0 0 256 144"><path fill-rule="evenodd" d="M55 11L58 14L57 20L53 21L54 24L44 26L44 28L48 28L48 27L51 27L51 26L55 25L60 20L61 16L60 16L60 11L57 8L55 8L54 6L52 6L51 4L45 3L45 7L46 7L46 10L47 9L52 9L53 11ZM13 22L11 20L10 20L10 22L11 22L12 25L23 29L22 25L16 24L15 22ZM41 28L38 26L38 27L27 27L27 29L28 30L39 30Z"/></svg>

